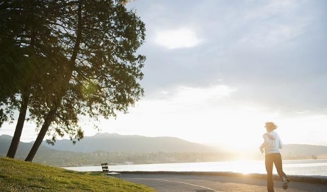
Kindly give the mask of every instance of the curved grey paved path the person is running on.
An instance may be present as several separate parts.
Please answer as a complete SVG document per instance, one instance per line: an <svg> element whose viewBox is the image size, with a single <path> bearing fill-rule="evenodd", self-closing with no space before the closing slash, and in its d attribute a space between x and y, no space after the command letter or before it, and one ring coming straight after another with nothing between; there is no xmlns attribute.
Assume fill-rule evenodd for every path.
<svg viewBox="0 0 327 192"><path fill-rule="evenodd" d="M267 191L266 180L247 177L196 176L169 174L123 174L122 179L166 191ZM327 185L290 182L284 190L281 181L274 181L275 191L287 192L326 192Z"/></svg>

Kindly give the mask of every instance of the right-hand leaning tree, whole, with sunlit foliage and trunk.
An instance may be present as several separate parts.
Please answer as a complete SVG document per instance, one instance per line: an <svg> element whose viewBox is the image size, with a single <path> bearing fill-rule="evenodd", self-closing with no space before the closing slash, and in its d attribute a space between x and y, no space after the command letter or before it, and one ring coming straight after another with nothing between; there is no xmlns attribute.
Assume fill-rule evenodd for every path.
<svg viewBox="0 0 327 192"><path fill-rule="evenodd" d="M49 143L64 132L81 139L79 114L108 118L126 113L143 95L138 80L145 56L135 52L145 40L145 25L125 2L71 1L66 15L53 23L66 71L52 99L31 113L41 129L26 161L33 160L48 131L54 133Z"/></svg>

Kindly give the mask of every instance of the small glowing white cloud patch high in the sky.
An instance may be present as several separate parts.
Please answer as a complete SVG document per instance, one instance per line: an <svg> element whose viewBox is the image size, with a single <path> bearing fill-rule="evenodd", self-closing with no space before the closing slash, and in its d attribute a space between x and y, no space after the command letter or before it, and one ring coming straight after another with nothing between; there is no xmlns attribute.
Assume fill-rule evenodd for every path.
<svg viewBox="0 0 327 192"><path fill-rule="evenodd" d="M154 42L168 49L176 49L195 47L201 42L201 39L191 29L179 28L157 31Z"/></svg>

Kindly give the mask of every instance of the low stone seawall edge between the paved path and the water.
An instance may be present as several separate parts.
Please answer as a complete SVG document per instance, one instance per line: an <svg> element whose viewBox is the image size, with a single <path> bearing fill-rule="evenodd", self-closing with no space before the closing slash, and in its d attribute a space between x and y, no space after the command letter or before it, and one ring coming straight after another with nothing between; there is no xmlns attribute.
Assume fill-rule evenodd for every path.
<svg viewBox="0 0 327 192"><path fill-rule="evenodd" d="M116 172L110 170L110 172ZM225 176L225 177L249 177L256 179L267 179L267 174L242 174L233 172L166 172L166 171L154 171L154 172L144 172L144 171L134 171L134 172L119 172L121 174L166 174L166 175L198 175L198 176ZM288 175L287 176L291 182L305 182L313 184L324 184L327 185L327 176L302 176L302 175ZM281 180L278 175L273 174L273 180Z"/></svg>

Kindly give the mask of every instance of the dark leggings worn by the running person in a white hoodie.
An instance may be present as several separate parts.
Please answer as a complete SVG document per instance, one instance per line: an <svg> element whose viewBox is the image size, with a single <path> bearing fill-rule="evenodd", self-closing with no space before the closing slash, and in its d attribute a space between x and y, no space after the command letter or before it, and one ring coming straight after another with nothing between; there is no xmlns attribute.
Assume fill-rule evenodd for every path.
<svg viewBox="0 0 327 192"><path fill-rule="evenodd" d="M277 173L281 180L283 181L283 177L286 178L286 174L283 172L283 165L282 165L282 156L280 153L272 153L266 155L266 170L267 170L267 189L268 192L274 191L274 183L272 181L272 166L273 163L277 169Z"/></svg>

